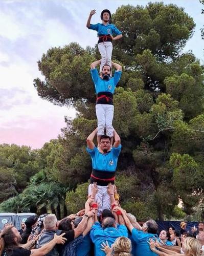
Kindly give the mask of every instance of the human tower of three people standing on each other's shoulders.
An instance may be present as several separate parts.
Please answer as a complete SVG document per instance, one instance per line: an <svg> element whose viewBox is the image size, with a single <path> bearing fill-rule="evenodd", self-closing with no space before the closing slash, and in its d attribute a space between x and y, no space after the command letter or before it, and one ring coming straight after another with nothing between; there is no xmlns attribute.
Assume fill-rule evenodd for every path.
<svg viewBox="0 0 204 256"><path fill-rule="evenodd" d="M112 126L114 118L114 92L120 80L122 67L112 62L112 40L118 40L122 33L118 28L111 24L111 13L105 9L101 12L102 23L90 24L92 16L96 10L89 14L86 27L98 32L98 49L101 59L94 61L90 65L90 74L95 84L97 94L96 116L98 127L87 138L87 152L92 158L92 174L90 175L90 185L88 194L91 194L93 186L97 184L98 192L96 202L98 206L98 215L101 215L103 209L110 209L110 198L108 195L108 184L114 184L115 172L118 157L121 152L120 137ZM116 35L115 37L113 35ZM98 72L97 66L100 65ZM112 76L111 68L116 69ZM93 140L97 135L97 146Z"/></svg>

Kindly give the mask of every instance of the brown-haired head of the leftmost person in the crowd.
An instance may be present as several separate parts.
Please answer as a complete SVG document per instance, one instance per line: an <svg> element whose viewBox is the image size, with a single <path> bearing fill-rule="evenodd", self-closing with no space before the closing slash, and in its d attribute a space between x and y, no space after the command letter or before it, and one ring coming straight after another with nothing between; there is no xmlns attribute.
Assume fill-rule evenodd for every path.
<svg viewBox="0 0 204 256"><path fill-rule="evenodd" d="M1 234L1 249L5 248L6 251L10 251L16 247L21 242L21 236L18 230L14 226L8 226L6 227L2 234ZM3 246L2 246L3 244ZM0 252L0 255L2 255L2 251Z"/></svg>

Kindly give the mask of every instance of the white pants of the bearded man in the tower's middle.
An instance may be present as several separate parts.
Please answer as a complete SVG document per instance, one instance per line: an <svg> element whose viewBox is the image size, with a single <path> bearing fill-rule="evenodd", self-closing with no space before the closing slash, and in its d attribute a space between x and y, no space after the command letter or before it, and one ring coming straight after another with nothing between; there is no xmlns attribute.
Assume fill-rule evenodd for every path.
<svg viewBox="0 0 204 256"><path fill-rule="evenodd" d="M106 135L110 138L114 136L114 127L112 126L112 119L114 118L114 105L96 104L96 116L98 119L98 136Z"/></svg>

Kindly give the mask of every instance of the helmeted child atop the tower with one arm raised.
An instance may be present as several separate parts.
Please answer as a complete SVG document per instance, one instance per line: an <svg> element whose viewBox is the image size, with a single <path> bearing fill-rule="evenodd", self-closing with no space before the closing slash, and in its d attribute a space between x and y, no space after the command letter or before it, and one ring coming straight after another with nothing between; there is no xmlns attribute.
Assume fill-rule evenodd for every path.
<svg viewBox="0 0 204 256"><path fill-rule="evenodd" d="M96 13L96 10L90 11L86 27L98 32L98 49L101 54L100 74L102 67L107 64L111 67L112 56L112 40L118 40L122 37L122 33L114 24L110 24L111 13L105 9L101 12L102 23L90 24L90 19ZM116 37L113 36L116 35Z"/></svg>

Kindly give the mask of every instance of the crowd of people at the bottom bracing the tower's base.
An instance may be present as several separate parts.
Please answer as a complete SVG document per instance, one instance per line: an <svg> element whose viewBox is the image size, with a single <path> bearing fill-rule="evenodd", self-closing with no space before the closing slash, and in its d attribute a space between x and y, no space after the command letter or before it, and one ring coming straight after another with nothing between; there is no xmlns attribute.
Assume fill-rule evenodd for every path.
<svg viewBox="0 0 204 256"><path fill-rule="evenodd" d="M170 227L158 233L154 220L142 226L135 216L122 209L115 185L109 183L107 194L111 209L100 216L97 203L98 186L93 184L84 209L57 220L54 214L31 216L17 230L6 224L0 234L0 253L4 256L153 256L204 255L204 224L186 230Z"/></svg>

